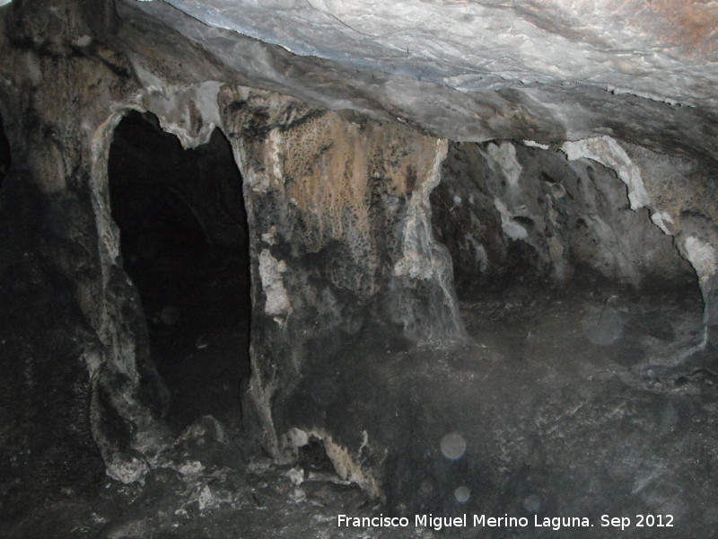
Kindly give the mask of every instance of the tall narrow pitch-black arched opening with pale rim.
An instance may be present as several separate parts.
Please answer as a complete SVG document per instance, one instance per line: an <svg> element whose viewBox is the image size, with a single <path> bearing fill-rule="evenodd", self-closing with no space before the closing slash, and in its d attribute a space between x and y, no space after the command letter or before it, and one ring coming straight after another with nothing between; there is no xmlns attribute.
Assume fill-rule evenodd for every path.
<svg viewBox="0 0 718 539"><path fill-rule="evenodd" d="M228 417L250 374L250 257L242 179L218 130L184 150L152 114L132 111L109 151L112 218L142 300L168 421Z"/></svg>

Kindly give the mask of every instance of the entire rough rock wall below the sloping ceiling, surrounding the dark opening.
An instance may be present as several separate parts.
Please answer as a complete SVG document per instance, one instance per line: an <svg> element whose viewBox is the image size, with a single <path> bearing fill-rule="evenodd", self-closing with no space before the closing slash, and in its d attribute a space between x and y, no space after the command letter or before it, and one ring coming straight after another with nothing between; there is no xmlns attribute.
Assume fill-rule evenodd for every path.
<svg viewBox="0 0 718 539"><path fill-rule="evenodd" d="M276 79L274 70L269 78L257 75L256 85L276 88L284 81L287 93L302 93L306 102L252 90L241 85L246 72L232 71L146 14L129 10L119 18L112 7L60 0L52 9L41 1L0 8L0 113L13 155L0 190L0 294L11 307L0 318L7 374L2 420L11 425L3 441L31 424L47 427L66 455L75 455L75 444L89 455L98 447L109 475L123 482L141 479L170 443L162 422L165 391L149 355L136 290L118 257L109 208L109 146L128 110L153 112L185 147L206 142L216 127L230 139L245 180L250 225L249 422L277 457L277 434L287 427L275 424L287 404L282 394L315 358L329 358L357 335L433 342L463 336L451 256L431 225L429 197L447 172L456 171L456 181L439 193L446 208L435 224L451 250L464 257L462 265L480 271L506 267L512 261L507 238L514 238L529 246L520 259L531 253L535 266L556 278L584 262L636 283L652 271L677 267L668 262L670 237L661 236L661 228L696 270L706 305L704 347L715 340L718 236L714 183L706 180L713 172L639 146L620 143L619 152L613 139L586 138L615 123L603 119L600 107L591 109L591 122L570 133L563 124L547 128L531 119L544 105L523 113L521 102L529 98L508 91L466 109L451 105L451 114L442 116L443 105L435 101L446 89L412 81L414 92L432 89L426 99L434 101L433 118L451 119L434 125L457 139L508 137L535 128L543 140L574 141L564 146L569 162L509 142L471 146L474 154L467 159L479 163L489 180L469 189L473 164L457 163L469 146L453 149L442 169L445 139L394 123L395 109L407 116L416 103L398 107L391 95L377 100L344 86L327 98L319 83L299 84L299 92L293 77L305 79L287 55L280 55L284 79ZM371 76L363 73L363 82L371 85ZM406 83L381 80L381 88L393 88L390 93ZM546 106L556 98L550 89L541 92L531 95L545 98ZM451 93L446 103L474 99L462 96ZM317 103L361 109L374 118ZM636 107L634 119L657 110L648 101ZM478 130L456 121L469 118L474 125L479 109ZM675 119L678 127L641 140L670 146L670 137L687 132L686 119L699 116L671 108L664 119ZM628 136L648 128L619 131ZM680 152L714 155L714 138L702 137L705 146L693 152L688 146L696 135L690 137L677 146ZM623 188L603 166L628 185L622 205ZM524 184L530 170L538 178L532 172ZM595 189L584 187L589 182ZM466 207L472 193L481 202L477 212ZM645 225L647 216L634 211L645 214L642 207L657 226ZM466 213L463 221L476 227L470 235L477 244L447 235L451 212ZM591 242L603 247L588 248ZM656 249L636 251L639 243ZM17 439L33 435L22 436Z"/></svg>

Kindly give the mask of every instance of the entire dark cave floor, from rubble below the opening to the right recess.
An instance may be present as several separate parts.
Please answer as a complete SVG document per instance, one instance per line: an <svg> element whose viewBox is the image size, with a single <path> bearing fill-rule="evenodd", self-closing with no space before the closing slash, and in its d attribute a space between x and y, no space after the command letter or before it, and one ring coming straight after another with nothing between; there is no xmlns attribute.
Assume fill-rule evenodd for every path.
<svg viewBox="0 0 718 539"><path fill-rule="evenodd" d="M4 501L14 517L2 535L433 537L413 526L337 528L338 514L413 519L420 511L596 523L605 513L652 512L672 515L677 526L652 536L712 533L716 379L673 372L700 338L695 290L520 283L464 290L461 307L469 340L407 346L365 332L355 346L314 361L277 407L287 411L279 418L286 427L327 429L350 447L366 432L369 446L390 447L385 505L340 481L321 458L301 453L298 463L279 465L251 454L236 403L223 404L218 419L182 425L211 412L208 402L236 402L233 383L201 383L202 369L188 367L172 375L176 392L185 384L188 402L206 402L175 415L176 446L144 485L90 473L76 488L48 482L46 495L25 498L26 507ZM241 342L237 331L202 331L207 346L199 349L192 335L173 349L187 356L174 365L226 355ZM550 536L613 536L598 530ZM548 536L521 533L469 527L450 536Z"/></svg>

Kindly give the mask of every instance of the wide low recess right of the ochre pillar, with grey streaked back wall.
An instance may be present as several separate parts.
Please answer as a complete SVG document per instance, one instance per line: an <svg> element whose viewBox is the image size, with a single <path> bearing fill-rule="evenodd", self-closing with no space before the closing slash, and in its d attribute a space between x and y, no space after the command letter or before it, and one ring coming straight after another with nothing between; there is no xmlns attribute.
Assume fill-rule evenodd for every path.
<svg viewBox="0 0 718 539"><path fill-rule="evenodd" d="M452 143L432 206L468 333L506 358L650 377L701 339L695 271L600 163Z"/></svg>

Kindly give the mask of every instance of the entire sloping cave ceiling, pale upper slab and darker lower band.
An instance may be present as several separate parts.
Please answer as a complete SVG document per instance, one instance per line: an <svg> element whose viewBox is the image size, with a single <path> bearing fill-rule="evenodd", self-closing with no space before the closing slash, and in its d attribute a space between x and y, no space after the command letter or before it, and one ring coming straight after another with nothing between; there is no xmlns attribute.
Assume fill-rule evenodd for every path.
<svg viewBox="0 0 718 539"><path fill-rule="evenodd" d="M118 12L179 31L245 83L454 140L609 135L718 158L715 2L120 0Z"/></svg>

